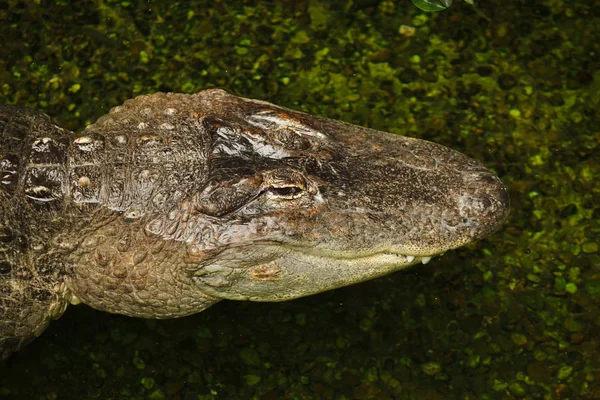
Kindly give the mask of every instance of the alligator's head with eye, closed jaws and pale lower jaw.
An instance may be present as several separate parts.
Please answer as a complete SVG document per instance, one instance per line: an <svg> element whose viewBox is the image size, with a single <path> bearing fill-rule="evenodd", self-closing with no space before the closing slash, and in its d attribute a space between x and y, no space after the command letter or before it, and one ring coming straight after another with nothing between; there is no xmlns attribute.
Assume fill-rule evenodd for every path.
<svg viewBox="0 0 600 400"><path fill-rule="evenodd" d="M187 96L188 108L177 96L119 112L179 110L206 138L196 190L145 230L185 244L186 269L209 296L281 301L365 281L480 239L508 214L501 181L439 144L222 90ZM169 124L162 114L140 123Z"/></svg>

